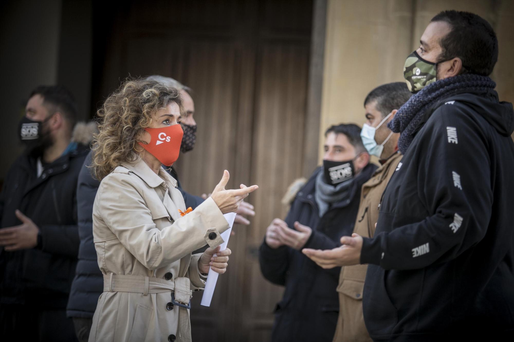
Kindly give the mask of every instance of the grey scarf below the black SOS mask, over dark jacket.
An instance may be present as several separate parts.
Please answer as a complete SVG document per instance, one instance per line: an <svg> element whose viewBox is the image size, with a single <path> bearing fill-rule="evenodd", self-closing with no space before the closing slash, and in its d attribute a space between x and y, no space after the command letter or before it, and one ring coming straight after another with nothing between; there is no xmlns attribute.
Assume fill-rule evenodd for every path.
<svg viewBox="0 0 514 342"><path fill-rule="evenodd" d="M325 183L323 172L320 172L318 176L316 176L314 199L318 204L320 217L325 215L331 204L338 203L350 196L354 179L355 177L334 186Z"/></svg>

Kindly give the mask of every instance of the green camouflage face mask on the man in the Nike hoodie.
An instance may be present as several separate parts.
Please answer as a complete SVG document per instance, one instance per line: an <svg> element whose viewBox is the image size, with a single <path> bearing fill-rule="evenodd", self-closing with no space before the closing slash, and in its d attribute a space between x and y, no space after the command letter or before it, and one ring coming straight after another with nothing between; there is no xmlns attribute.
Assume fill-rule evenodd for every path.
<svg viewBox="0 0 514 342"><path fill-rule="evenodd" d="M416 93L425 86L435 82L436 63L421 58L416 51L412 52L405 61L403 77L412 93Z"/></svg>

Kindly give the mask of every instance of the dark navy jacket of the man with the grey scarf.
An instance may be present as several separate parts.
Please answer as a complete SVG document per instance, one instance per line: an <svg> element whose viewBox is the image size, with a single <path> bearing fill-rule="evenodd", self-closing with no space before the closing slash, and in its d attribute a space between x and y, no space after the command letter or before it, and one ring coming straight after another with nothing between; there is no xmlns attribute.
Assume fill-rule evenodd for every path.
<svg viewBox="0 0 514 342"><path fill-rule="evenodd" d="M368 164L355 177L350 196L319 217L314 199L318 168L296 195L285 222L307 225L313 232L305 248L333 249L340 238L351 235L359 208L362 184L370 179L376 165ZM287 246L271 249L264 241L259 251L262 274L269 281L285 286L284 297L274 310L273 342L330 342L336 330L339 297L336 292L341 268L324 270L300 251Z"/></svg>

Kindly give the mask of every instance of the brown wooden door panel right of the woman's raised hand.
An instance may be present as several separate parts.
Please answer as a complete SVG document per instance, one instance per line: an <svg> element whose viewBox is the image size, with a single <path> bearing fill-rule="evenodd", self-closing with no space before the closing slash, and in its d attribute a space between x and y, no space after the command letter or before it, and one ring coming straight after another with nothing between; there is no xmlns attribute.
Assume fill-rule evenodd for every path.
<svg viewBox="0 0 514 342"><path fill-rule="evenodd" d="M252 180L260 186L252 203L259 214L248 230L251 251L258 250L273 218L285 218L288 208L280 200L289 184L302 176L308 47L269 44L259 58L252 154ZM270 312L283 288L264 279L256 253L250 254L248 266L244 290L249 300L243 312L248 331L264 333L271 328ZM259 336L251 334L247 340Z"/></svg>

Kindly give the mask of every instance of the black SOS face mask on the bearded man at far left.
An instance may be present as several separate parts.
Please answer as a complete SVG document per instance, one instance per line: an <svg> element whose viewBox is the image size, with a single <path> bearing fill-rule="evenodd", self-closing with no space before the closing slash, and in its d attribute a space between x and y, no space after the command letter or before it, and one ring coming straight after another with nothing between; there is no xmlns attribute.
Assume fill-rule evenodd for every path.
<svg viewBox="0 0 514 342"><path fill-rule="evenodd" d="M48 131L43 129L43 125L51 118L48 117L43 121L30 120L23 117L19 124L20 141L27 146L30 153L42 154L43 151L52 145L51 136Z"/></svg>

